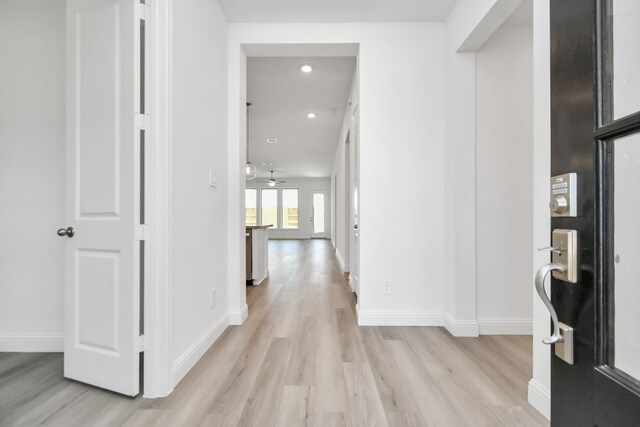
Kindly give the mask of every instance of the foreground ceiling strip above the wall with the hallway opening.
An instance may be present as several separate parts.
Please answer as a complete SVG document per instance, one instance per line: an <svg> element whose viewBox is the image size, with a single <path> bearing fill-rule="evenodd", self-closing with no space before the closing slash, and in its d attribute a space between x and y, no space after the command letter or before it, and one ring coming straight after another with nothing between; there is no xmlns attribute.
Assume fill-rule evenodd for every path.
<svg viewBox="0 0 640 427"><path fill-rule="evenodd" d="M229 22L444 21L455 0L218 0Z"/></svg>

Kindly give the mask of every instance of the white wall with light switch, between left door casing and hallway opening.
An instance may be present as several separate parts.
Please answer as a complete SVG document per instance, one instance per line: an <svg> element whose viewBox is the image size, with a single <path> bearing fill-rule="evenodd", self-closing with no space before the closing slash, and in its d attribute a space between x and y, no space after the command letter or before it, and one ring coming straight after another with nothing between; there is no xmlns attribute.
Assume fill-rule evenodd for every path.
<svg viewBox="0 0 640 427"><path fill-rule="evenodd" d="M227 23L209 0L173 3L172 360L177 383L228 325ZM209 186L209 169L218 187ZM215 288L215 307L209 306Z"/></svg>

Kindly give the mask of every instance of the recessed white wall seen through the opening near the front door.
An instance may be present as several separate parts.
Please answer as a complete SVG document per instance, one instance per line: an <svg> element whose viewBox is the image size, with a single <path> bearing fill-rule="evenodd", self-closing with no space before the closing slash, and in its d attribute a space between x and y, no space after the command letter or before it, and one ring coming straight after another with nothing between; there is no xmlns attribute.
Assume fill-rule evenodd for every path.
<svg viewBox="0 0 640 427"><path fill-rule="evenodd" d="M503 26L476 52L480 333L532 332L533 39Z"/></svg>

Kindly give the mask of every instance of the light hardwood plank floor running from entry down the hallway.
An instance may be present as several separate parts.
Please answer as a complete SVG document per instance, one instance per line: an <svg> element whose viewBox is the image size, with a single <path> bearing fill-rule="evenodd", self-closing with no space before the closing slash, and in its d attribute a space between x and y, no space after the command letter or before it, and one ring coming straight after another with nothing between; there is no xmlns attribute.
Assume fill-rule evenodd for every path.
<svg viewBox="0 0 640 427"><path fill-rule="evenodd" d="M60 354L0 354L0 425L547 426L527 403L531 337L358 327L325 240L272 241L271 278L164 399L62 378Z"/></svg>

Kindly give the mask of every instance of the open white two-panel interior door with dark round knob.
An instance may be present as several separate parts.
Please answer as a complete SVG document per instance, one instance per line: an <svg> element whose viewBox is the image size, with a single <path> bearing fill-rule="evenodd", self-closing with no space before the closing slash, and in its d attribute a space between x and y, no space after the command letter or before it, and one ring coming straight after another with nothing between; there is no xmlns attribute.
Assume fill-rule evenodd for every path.
<svg viewBox="0 0 640 427"><path fill-rule="evenodd" d="M137 16L134 0L67 1L64 374L130 396L139 391Z"/></svg>

